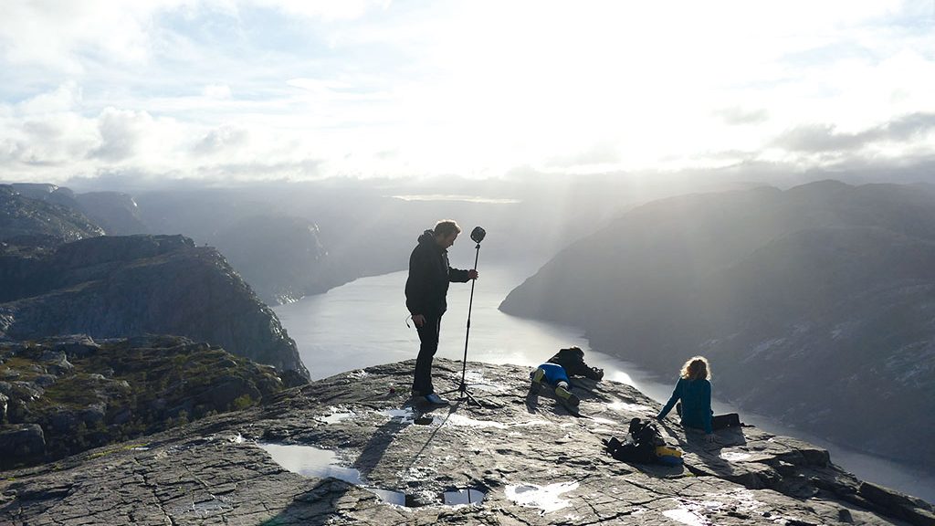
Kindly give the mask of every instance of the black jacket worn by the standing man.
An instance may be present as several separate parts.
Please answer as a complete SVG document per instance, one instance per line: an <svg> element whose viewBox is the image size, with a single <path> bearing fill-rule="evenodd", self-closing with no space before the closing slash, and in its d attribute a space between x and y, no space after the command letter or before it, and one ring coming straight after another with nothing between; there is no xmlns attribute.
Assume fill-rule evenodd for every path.
<svg viewBox="0 0 935 526"><path fill-rule="evenodd" d="M425 230L410 256L410 275L406 280L406 308L410 314L444 314L448 309L445 297L450 282L467 283L468 270L452 269L448 265L448 251L435 241L432 230Z"/></svg>

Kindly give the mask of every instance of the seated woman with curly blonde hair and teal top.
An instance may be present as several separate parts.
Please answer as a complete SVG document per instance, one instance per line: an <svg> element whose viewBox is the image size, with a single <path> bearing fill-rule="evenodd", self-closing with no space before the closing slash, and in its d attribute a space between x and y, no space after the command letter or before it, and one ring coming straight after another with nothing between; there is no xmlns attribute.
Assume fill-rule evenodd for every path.
<svg viewBox="0 0 935 526"><path fill-rule="evenodd" d="M669 402L662 408L656 420L662 421L675 402L682 402L682 425L686 428L704 430L708 442L714 440L714 430L723 430L741 425L737 413L713 416L711 410L711 367L704 357L690 358L682 366L679 383L675 385Z"/></svg>

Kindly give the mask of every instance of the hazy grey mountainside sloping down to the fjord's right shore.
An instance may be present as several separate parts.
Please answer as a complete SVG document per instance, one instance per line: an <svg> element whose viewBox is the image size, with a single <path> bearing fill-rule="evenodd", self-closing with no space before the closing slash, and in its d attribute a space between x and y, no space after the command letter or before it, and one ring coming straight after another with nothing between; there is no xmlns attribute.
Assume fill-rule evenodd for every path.
<svg viewBox="0 0 935 526"><path fill-rule="evenodd" d="M906 424L935 428L930 187L656 201L569 246L500 308L581 327L595 348L667 378L705 355L723 399L935 466L935 442Z"/></svg>

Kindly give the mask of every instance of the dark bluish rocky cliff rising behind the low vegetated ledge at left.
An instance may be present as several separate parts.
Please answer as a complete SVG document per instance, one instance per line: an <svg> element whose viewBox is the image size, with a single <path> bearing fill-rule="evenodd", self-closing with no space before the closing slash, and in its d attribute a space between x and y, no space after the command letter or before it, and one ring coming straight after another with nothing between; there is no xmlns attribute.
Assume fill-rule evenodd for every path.
<svg viewBox="0 0 935 526"><path fill-rule="evenodd" d="M276 314L216 250L181 236L105 236L0 257L0 335L76 333L177 334L309 377Z"/></svg>

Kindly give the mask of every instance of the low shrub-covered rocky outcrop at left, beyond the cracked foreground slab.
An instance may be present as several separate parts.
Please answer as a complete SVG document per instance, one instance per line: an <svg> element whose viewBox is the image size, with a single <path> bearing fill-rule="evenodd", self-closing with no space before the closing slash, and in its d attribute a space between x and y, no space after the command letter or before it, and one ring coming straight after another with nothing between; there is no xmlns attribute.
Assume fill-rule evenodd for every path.
<svg viewBox="0 0 935 526"><path fill-rule="evenodd" d="M243 409L281 391L267 366L174 336L0 343L0 469Z"/></svg>

